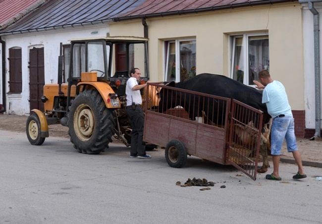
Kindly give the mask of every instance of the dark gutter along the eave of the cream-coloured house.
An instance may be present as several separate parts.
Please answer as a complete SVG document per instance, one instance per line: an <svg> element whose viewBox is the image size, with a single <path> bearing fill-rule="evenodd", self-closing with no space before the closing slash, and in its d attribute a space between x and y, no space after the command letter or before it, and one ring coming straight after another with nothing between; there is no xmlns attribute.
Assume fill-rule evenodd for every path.
<svg viewBox="0 0 322 224"><path fill-rule="evenodd" d="M238 7L256 6L256 5L282 3L282 2L293 2L293 1L294 0L249 1L249 2L236 3L236 4L212 6L212 7L207 7L207 8L177 10L177 11L168 11L168 12L151 13L151 14L143 14L143 15L133 15L133 16L130 15L130 16L123 16L123 17L120 16L120 17L113 18L112 20L113 20L113 22L120 22L120 21L141 19L141 18L155 18L155 17L164 17L164 16L173 16L173 15L185 15L185 14L192 14L192 13L216 11L216 10L222 10L222 9L233 9L233 8L238 8Z"/></svg>

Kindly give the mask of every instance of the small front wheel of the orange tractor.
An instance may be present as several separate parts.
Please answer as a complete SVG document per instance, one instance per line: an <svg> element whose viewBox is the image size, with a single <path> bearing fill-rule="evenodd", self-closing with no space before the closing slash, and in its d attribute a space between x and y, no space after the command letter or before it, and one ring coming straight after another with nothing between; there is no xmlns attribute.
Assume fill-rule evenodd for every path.
<svg viewBox="0 0 322 224"><path fill-rule="evenodd" d="M26 133L32 145L41 145L44 143L46 138L41 137L40 120L36 113L31 114L27 118Z"/></svg>

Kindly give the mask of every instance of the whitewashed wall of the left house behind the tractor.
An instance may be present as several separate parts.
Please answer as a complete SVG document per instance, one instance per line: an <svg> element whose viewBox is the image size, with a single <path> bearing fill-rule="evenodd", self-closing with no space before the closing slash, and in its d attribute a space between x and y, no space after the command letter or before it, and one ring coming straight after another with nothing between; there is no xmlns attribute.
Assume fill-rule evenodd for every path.
<svg viewBox="0 0 322 224"><path fill-rule="evenodd" d="M52 83L52 81L53 83L56 83L58 74L58 56L60 43L65 45L69 44L68 40L72 38L86 38L93 36L101 37L106 36L107 33L109 33L108 24L100 24L88 25L81 28L56 29L53 31L41 31L26 34L2 36L1 38L3 41L5 41L6 44L6 83L9 80L9 62L7 59L9 56L9 49L12 47L20 47L22 49L22 93L6 94L9 90L8 84L6 85L6 113L12 113L17 115L28 115L30 113L28 68L30 49L34 47L44 47L45 84ZM2 66L2 64L0 66ZM0 76L0 79L2 79L2 76Z"/></svg>

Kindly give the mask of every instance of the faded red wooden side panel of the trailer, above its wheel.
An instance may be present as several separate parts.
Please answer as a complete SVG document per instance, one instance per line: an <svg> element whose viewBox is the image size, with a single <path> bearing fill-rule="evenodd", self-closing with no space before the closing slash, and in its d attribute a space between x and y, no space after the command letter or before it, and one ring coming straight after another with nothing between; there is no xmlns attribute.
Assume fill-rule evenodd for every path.
<svg viewBox="0 0 322 224"><path fill-rule="evenodd" d="M226 164L224 128L147 111L144 132L144 140L149 143L166 147L169 141L177 139L184 144L188 155Z"/></svg>

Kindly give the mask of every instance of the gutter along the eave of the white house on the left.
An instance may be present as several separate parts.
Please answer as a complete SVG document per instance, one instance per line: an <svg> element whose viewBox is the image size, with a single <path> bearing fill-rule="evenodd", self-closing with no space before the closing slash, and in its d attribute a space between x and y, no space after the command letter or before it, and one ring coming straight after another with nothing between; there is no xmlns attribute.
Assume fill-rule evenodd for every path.
<svg viewBox="0 0 322 224"><path fill-rule="evenodd" d="M33 33L33 32L41 32L41 31L51 31L51 30L65 29L65 28L70 28L70 27L77 28L77 27L82 27L82 26L86 26L86 25L96 25L96 24L102 24L102 23L108 23L108 22L112 22L112 19L98 20L98 21L92 21L92 22L83 22L83 23L75 23L75 24L67 24L67 25L62 25L62 26L44 27L44 28L31 29L31 30L20 30L20 31L14 31L14 32L4 32L4 33L0 33L0 37L1 36L15 35L15 34Z"/></svg>

